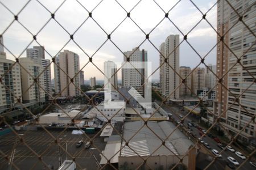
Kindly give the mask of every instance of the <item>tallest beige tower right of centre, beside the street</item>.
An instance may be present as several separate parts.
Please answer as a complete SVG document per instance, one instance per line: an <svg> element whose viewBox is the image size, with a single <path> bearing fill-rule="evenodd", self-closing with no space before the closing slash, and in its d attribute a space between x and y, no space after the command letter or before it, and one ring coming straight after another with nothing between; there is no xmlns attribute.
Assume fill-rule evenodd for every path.
<svg viewBox="0 0 256 170"><path fill-rule="evenodd" d="M180 84L178 74L180 69L179 35L170 35L159 46L160 51L160 92L170 99L179 99L180 90L175 90ZM172 68L171 68L171 67ZM176 73L175 73L175 71Z"/></svg>

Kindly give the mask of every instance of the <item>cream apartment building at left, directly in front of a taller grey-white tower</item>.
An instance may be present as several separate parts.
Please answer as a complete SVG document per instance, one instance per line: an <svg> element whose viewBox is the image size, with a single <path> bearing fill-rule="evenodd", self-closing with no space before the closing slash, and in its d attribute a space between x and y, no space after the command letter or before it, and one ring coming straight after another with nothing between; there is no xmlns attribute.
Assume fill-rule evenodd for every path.
<svg viewBox="0 0 256 170"><path fill-rule="evenodd" d="M19 63L22 65L20 74L22 80L23 103L44 103L44 75L41 74L38 77L43 71L43 66L36 63L31 58L19 58ZM36 83L34 83L34 79L36 79Z"/></svg>

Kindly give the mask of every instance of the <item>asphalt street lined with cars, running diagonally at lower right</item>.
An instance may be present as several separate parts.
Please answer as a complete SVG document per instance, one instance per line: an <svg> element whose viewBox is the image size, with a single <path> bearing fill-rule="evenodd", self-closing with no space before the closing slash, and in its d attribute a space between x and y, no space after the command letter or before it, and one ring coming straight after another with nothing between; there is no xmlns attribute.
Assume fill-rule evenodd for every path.
<svg viewBox="0 0 256 170"><path fill-rule="evenodd" d="M159 104L160 104L160 103L159 103ZM170 106L167 107L167 106L163 105L162 108L163 108L167 113L171 113L171 114L172 114L172 118L173 118L174 120L179 120L179 121L180 121L180 120L181 120L180 115L183 116L183 117L185 117L185 116L188 114L187 111L181 111L178 107L173 107L173 106L172 106L172 107L170 107ZM196 117L195 117L195 116L192 116L191 114L189 114L189 115L185 118L184 123L183 123L183 125L184 125L185 128L188 127L188 125L187 125L188 121L190 121L190 122L196 122L196 123L197 123ZM200 133L200 130L198 130L198 129L195 128L195 127L191 127L191 128L192 128L192 133L195 133L197 137L200 137L200 134L199 134L199 133ZM201 128L202 128L202 127L201 127ZM204 128L202 128L202 129L204 129ZM207 130L207 129L205 129L205 130ZM217 142L214 141L214 139L212 139L212 138L208 137L207 135L205 135L205 137L203 137L203 141L206 142L206 143L208 143L209 146L211 147L211 149L209 150L209 149L207 149L206 147L204 147L203 145L200 145L201 147L204 147L205 150L208 150L208 154L209 154L209 155L213 155L213 154L212 154L212 150L213 150L213 149L216 149L218 152L221 152L221 148L217 146ZM232 146L232 145L231 145L231 146ZM232 146L232 147L233 147L233 146ZM233 147L233 148L234 148L234 147ZM236 150L236 151L240 151L243 155L245 155L242 150ZM241 164L242 162L244 162L244 160L242 160L242 159L239 158L236 154L234 154L234 152L230 152L229 150L225 150L225 151L221 152L221 155L222 155L222 158L218 158L218 159L222 159L222 160L228 161L228 160L227 160L228 156L232 156L234 159L237 160L238 163ZM248 160L245 164L242 165L242 167L241 167L240 169L242 169L242 170L250 170L250 169L255 169L255 168L252 167L252 165L249 163L249 160Z"/></svg>

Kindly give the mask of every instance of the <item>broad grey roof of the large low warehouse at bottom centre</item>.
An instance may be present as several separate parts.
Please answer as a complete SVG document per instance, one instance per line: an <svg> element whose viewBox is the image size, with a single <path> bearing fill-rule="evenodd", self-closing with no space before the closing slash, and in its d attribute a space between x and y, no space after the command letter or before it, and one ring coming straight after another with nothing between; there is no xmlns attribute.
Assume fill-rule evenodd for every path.
<svg viewBox="0 0 256 170"><path fill-rule="evenodd" d="M185 155L189 146L193 145L181 131L176 129L166 140L166 146L160 146L162 145L162 141L175 129L175 125L168 121L148 121L147 126L151 130L154 130L158 137L152 133L147 126L143 125L143 121L125 122L123 129L123 138L126 140L134 136L130 140L129 146L140 155ZM138 131L142 126L143 128ZM122 146L123 145L125 145L125 143L122 143ZM158 150L156 150L156 148L158 148ZM125 146L121 151L121 156L134 156L135 152L133 152L133 150Z"/></svg>

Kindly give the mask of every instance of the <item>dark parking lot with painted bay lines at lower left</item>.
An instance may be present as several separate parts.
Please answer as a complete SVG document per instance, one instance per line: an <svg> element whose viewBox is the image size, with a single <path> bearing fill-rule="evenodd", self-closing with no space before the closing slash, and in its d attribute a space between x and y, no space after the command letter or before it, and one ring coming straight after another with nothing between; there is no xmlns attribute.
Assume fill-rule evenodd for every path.
<svg viewBox="0 0 256 170"><path fill-rule="evenodd" d="M60 131L49 132L53 137L59 139L62 147L56 145L51 135L44 130L18 131L20 137L24 139L24 143L36 154L41 155L42 160L53 169L59 168L60 160L63 162L66 158L76 158L77 169L95 169L97 167L95 159L100 162L100 154L106 144L103 138L96 137L93 139L93 145L86 149L84 144L81 147L76 147L76 143L80 140L84 141L84 143L89 141L85 135L73 135L71 134L72 131L64 131L63 133ZM88 135L92 138L95 134ZM24 143L21 143L14 133L9 133L1 136L0 150L5 155L8 155L19 169L44 169L45 165ZM70 155L66 154L66 149ZM9 169L10 166L4 155L1 154L0 169ZM15 168L13 167L12 169Z"/></svg>

